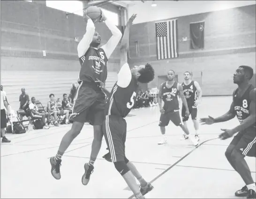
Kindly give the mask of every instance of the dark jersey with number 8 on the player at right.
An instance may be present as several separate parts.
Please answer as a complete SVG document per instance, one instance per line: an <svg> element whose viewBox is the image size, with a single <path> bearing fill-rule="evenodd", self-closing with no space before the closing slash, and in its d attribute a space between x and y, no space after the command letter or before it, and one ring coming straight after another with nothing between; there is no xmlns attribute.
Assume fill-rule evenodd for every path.
<svg viewBox="0 0 256 199"><path fill-rule="evenodd" d="M249 117L249 109L250 109L250 91L254 89L255 87L253 85L250 85L248 89L245 91L243 96L238 97L237 92L238 88L235 90L233 94L233 103L234 103L234 111L236 114L236 117L238 118L239 122L242 123L243 120ZM252 125L252 127L255 127L256 123Z"/></svg>

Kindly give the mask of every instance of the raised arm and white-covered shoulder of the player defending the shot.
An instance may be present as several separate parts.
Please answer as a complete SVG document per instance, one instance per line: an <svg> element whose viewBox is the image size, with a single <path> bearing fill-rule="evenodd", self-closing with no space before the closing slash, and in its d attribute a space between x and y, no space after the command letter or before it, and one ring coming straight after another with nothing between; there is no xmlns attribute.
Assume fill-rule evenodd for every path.
<svg viewBox="0 0 256 199"><path fill-rule="evenodd" d="M129 83L132 79L132 74L130 67L127 63L127 52L129 49L129 33L130 33L130 26L132 25L133 20L135 19L136 15L132 15L131 18L128 20L126 24L126 28L124 31L124 35L121 41L120 46L120 71L118 74L118 81L117 85L121 88L128 87Z"/></svg>

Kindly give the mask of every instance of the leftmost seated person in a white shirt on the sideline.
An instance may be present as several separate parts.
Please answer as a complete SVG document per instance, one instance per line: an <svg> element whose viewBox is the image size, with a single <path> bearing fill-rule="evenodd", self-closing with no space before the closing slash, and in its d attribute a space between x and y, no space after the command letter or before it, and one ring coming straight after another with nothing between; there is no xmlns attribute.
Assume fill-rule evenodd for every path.
<svg viewBox="0 0 256 199"><path fill-rule="evenodd" d="M29 108L30 108L31 115L32 115L33 119L34 118L40 119L44 124L43 128L44 129L49 129L50 128L50 126L49 126L49 124L50 124L50 115L49 115L48 112L40 113L38 111L38 106L36 104L36 98L35 97L31 97L31 103L29 105ZM45 124L45 118L47 118L47 124Z"/></svg>

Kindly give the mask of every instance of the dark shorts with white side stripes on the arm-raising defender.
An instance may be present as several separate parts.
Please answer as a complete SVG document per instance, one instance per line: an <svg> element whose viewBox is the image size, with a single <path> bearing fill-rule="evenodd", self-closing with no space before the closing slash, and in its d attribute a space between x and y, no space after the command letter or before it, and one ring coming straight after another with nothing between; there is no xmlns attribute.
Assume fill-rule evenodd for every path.
<svg viewBox="0 0 256 199"><path fill-rule="evenodd" d="M105 116L103 133L113 162L125 159L126 131L127 124L124 118L114 115Z"/></svg>

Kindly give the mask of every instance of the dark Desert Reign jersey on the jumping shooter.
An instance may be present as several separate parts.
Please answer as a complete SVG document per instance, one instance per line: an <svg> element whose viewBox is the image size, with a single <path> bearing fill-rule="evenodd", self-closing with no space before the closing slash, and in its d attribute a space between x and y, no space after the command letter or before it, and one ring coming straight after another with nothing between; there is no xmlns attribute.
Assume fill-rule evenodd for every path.
<svg viewBox="0 0 256 199"><path fill-rule="evenodd" d="M85 55L79 58L81 69L78 82L94 82L98 79L105 83L107 77L107 60L106 54L102 48L95 49L89 47Z"/></svg>

